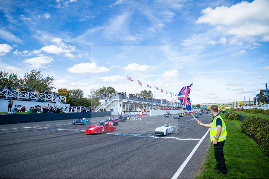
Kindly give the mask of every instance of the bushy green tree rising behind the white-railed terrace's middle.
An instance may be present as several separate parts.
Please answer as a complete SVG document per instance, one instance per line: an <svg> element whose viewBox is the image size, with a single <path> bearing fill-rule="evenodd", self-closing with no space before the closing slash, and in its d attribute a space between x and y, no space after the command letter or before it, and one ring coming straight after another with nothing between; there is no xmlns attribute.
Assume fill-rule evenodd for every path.
<svg viewBox="0 0 269 179"><path fill-rule="evenodd" d="M30 73L26 72L25 76L21 80L21 87L27 87L28 89L33 88L33 90L42 90L43 92L51 91L52 89L55 89L53 86L53 76L47 76L46 78L43 78L43 75L41 75L41 71L32 70Z"/></svg>

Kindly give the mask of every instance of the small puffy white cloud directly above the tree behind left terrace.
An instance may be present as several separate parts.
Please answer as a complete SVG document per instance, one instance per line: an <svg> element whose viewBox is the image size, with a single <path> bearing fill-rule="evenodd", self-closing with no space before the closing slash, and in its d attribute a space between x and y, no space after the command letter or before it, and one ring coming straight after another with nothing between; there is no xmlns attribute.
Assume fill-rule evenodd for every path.
<svg viewBox="0 0 269 179"><path fill-rule="evenodd" d="M39 69L46 68L45 65L50 64L53 61L53 58L40 54L38 57L23 60L23 63L29 64L34 69Z"/></svg>

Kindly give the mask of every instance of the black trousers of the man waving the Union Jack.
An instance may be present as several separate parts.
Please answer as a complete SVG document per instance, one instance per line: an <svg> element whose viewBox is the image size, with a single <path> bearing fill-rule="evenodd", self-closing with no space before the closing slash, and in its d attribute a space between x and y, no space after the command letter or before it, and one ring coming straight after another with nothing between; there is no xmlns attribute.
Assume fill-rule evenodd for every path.
<svg viewBox="0 0 269 179"><path fill-rule="evenodd" d="M221 173L227 173L224 154L223 154L224 143L225 143L225 140L218 142L217 144L214 144L217 169L219 169Z"/></svg>

